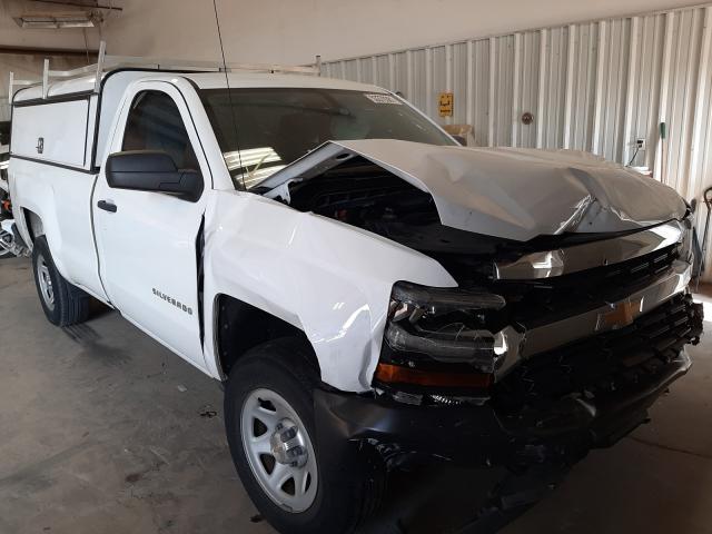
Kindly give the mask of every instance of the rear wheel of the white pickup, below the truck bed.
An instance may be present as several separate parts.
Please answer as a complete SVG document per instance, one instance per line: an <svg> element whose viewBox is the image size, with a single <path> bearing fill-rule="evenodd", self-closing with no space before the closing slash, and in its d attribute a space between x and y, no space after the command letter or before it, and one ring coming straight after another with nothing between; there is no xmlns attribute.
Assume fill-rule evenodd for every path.
<svg viewBox="0 0 712 534"><path fill-rule="evenodd" d="M69 284L59 274L52 255L49 251L47 239L40 236L34 240L32 249L32 270L34 285L40 297L42 309L47 319L57 326L76 325L89 318L89 304L91 297L76 286ZM47 289L49 285L49 296ZM50 298L51 296L51 298Z"/></svg>

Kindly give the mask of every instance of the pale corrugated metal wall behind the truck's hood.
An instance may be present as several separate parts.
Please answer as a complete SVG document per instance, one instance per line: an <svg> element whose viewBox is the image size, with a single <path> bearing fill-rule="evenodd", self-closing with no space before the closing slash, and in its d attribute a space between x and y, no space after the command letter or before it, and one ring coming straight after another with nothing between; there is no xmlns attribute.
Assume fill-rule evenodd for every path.
<svg viewBox="0 0 712 534"><path fill-rule="evenodd" d="M478 146L632 161L689 200L712 185L712 4L329 61L324 75L400 91L441 123L472 125ZM441 119L449 91L454 117Z"/></svg>

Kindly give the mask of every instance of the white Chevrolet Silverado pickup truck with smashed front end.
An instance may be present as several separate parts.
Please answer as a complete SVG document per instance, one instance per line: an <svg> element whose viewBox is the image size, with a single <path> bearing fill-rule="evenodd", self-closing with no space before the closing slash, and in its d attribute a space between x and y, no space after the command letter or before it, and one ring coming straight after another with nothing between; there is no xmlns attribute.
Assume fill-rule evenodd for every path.
<svg viewBox="0 0 712 534"><path fill-rule="evenodd" d="M461 147L378 87L228 79L21 89L10 191L48 319L93 297L225 383L237 471L280 532L350 532L411 462L574 463L689 369L672 189Z"/></svg>

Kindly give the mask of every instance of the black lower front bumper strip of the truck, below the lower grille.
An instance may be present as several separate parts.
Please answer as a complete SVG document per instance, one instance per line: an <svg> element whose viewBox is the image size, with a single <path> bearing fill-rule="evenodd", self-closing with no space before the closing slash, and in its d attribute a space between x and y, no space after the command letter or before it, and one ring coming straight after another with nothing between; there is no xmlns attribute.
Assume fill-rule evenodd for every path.
<svg viewBox="0 0 712 534"><path fill-rule="evenodd" d="M691 367L684 350L644 387L594 405L562 399L545 412L504 416L484 406L407 406L356 395L315 394L322 451L338 454L348 442L376 445L388 461L415 457L463 465L575 462L606 447L647 419L647 408Z"/></svg>

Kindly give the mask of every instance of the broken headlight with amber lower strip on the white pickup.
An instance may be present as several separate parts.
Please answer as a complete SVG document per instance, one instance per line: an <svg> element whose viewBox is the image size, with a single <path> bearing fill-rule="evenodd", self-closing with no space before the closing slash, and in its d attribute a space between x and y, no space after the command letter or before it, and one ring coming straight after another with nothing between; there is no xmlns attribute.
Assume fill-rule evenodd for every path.
<svg viewBox="0 0 712 534"><path fill-rule="evenodd" d="M512 342L505 305L486 291L397 283L376 383L411 390L488 387Z"/></svg>

